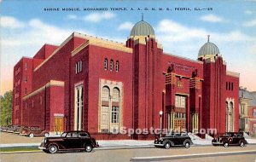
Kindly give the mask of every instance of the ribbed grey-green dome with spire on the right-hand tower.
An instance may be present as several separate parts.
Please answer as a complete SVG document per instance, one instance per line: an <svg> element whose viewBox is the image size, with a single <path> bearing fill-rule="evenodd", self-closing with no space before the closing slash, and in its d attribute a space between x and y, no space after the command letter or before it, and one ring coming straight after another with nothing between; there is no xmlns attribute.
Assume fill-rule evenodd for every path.
<svg viewBox="0 0 256 162"><path fill-rule="evenodd" d="M204 55L218 55L219 54L217 45L209 42L209 37L210 36L208 36L208 42L205 43L199 50L198 57L202 57Z"/></svg>

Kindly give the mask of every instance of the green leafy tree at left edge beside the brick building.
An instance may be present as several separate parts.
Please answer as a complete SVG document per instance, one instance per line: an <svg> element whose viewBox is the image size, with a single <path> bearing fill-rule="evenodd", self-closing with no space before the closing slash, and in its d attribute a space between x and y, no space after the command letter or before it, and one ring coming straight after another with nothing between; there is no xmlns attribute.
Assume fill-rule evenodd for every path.
<svg viewBox="0 0 256 162"><path fill-rule="evenodd" d="M13 92L11 90L3 96L0 95L0 125L12 124L12 99Z"/></svg>

